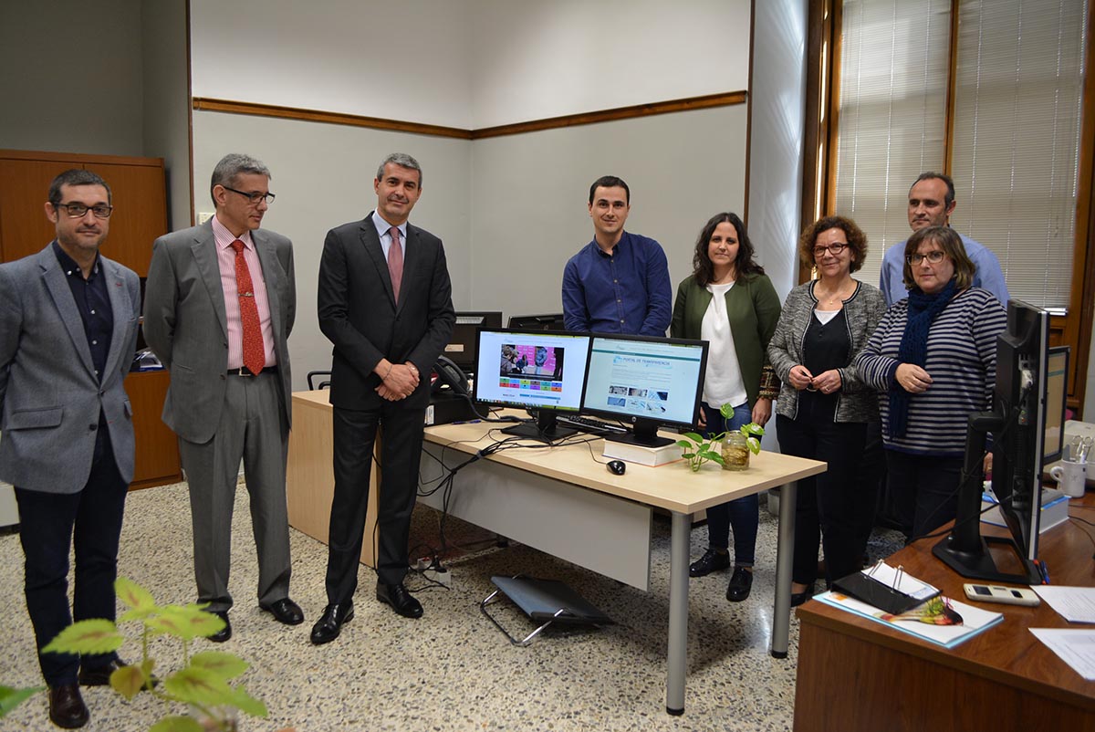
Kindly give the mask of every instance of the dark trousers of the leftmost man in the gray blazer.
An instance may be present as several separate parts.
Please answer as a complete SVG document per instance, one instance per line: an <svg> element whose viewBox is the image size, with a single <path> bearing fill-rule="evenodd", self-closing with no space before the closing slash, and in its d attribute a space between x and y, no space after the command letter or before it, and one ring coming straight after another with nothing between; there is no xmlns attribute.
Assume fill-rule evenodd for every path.
<svg viewBox="0 0 1095 732"><path fill-rule="evenodd" d="M95 668L116 653L42 653L76 620L114 620L114 580L128 485L114 461L105 421L99 423L91 473L78 493L43 493L15 487L20 539L26 557L26 609L34 626L42 676L49 686L76 684L80 665ZM58 459L64 459L58 457ZM69 613L69 549L76 549L72 611Z"/></svg>

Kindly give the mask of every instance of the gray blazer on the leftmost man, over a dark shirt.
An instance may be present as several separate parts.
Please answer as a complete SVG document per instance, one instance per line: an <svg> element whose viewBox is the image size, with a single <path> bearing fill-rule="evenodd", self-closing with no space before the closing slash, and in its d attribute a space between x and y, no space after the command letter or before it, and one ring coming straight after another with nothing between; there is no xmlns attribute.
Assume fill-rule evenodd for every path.
<svg viewBox="0 0 1095 732"><path fill-rule="evenodd" d="M43 493L88 482L100 411L123 480L134 476L132 408L122 386L137 347L140 279L101 258L114 312L102 384L53 245L0 264L0 479Z"/></svg>

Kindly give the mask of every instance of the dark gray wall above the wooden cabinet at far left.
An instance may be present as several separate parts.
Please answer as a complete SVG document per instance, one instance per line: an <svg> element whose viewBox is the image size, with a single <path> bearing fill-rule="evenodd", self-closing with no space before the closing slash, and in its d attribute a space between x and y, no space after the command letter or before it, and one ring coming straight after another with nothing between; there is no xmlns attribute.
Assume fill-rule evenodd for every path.
<svg viewBox="0 0 1095 732"><path fill-rule="evenodd" d="M3 0L0 69L0 148L145 155L140 0Z"/></svg>

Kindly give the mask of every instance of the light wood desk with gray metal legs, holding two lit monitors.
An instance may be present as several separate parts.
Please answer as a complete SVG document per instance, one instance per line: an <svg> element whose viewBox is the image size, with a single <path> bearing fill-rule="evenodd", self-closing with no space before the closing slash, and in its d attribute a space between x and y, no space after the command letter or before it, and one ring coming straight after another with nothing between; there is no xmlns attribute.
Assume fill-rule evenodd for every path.
<svg viewBox="0 0 1095 732"><path fill-rule="evenodd" d="M426 430L426 451L433 453L447 465L463 462L495 439L506 435L493 432L496 425L487 423L450 424ZM668 434L667 434L668 436ZM526 442L527 445L534 445ZM604 568L604 551L596 544L583 551L580 545L604 541L601 534L612 529L607 522L593 518L593 530L585 530L589 512L607 516L611 513L626 515L626 523L619 529L619 540L610 539L615 551L622 545L645 545L649 551L650 508L670 512L672 535L669 561L669 628L668 675L666 710L671 714L684 711L684 679L688 652L688 583L689 537L691 515L733 499L759 493L769 488L787 485L780 500L780 540L776 559L775 613L772 625L771 653L786 657L787 632L791 611L791 561L794 553L795 489L793 481L823 472L826 465L777 453L763 451L753 456L750 468L744 472L722 470L717 465L706 465L692 473L687 462L677 461L657 468L629 464L627 472L615 476L591 459L590 446L584 443L551 448L518 448L495 453L485 460L474 462L457 473L462 482L453 490L449 511L452 515L505 534L530 546L550 551L568 561L610 576L616 571ZM592 444L592 453L600 456L600 442ZM603 459L603 458L601 458ZM434 464L434 474L439 473L437 461L423 458L424 477L428 480L428 464ZM789 485L788 485L789 484ZM436 494L435 494L436 495ZM424 499L427 501L427 499ZM506 508L498 510L499 502ZM508 503L506 503L508 502ZM520 503L518 503L520 502ZM554 510L553 510L554 504ZM573 507L572 507L573 506ZM515 534L515 516L529 513L521 534ZM645 533L641 530L645 516ZM639 527L639 529L629 529ZM626 536L631 531L632 536ZM528 538L531 533L533 536ZM554 540L554 542L552 542ZM648 560L647 560L648 561ZM633 577L634 565L619 569L636 586L642 577Z"/></svg>

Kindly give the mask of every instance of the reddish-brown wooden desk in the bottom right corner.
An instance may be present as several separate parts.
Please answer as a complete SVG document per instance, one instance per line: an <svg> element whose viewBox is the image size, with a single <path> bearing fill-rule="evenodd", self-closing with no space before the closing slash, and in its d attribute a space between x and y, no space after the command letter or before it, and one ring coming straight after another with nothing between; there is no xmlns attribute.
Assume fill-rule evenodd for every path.
<svg viewBox="0 0 1095 732"><path fill-rule="evenodd" d="M1095 521L1093 508L1095 493L1088 493L1069 512ZM971 580L932 556L936 541L919 541L888 561L968 602L963 584ZM1041 535L1039 557L1054 584L1095 586L1093 549L1070 521ZM1002 570L1018 571L1014 556L993 556ZM1002 611L1003 622L950 650L816 601L800 607L795 732L1095 730L1095 683L1029 631L1069 624L1046 603L979 606Z"/></svg>

